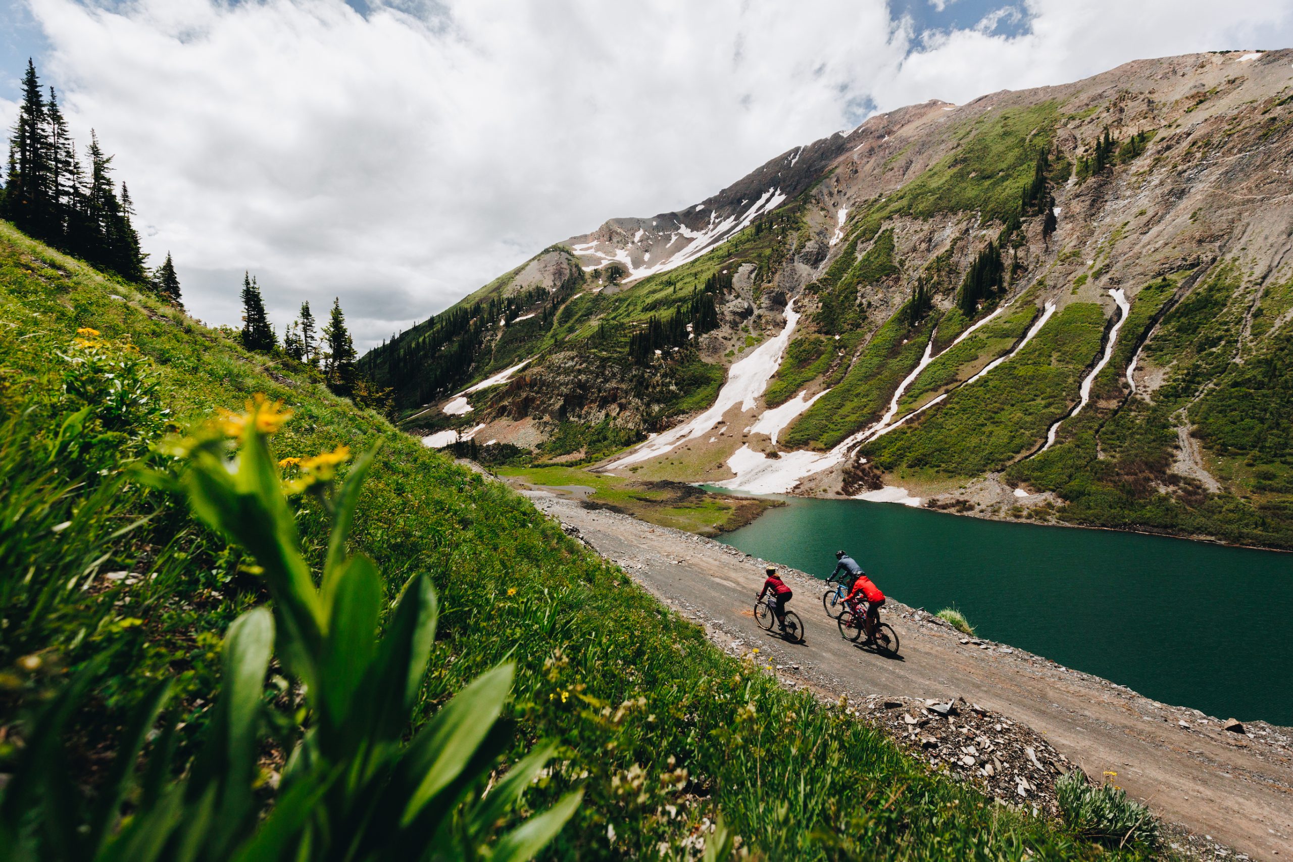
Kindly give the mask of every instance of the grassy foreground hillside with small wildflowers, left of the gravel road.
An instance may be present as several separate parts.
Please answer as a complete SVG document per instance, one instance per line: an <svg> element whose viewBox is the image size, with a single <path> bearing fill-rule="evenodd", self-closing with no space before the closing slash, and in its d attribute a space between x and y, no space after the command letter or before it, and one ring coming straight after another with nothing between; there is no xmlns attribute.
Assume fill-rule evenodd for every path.
<svg viewBox="0 0 1293 862"><path fill-rule="evenodd" d="M137 345L140 359L127 363L137 367L120 379L146 397L112 412L63 392L78 327ZM389 598L418 573L440 592L423 720L504 657L517 662L513 755L539 737L561 743L528 804L587 788L551 858L683 858L719 810L763 858L1106 858L930 773L842 710L785 691L754 660L727 657L506 487L3 222L0 368L0 770L22 737L16 716L92 655L109 659L110 677L76 722L79 774L94 779L103 741L149 677L177 681L184 744L202 734L219 635L264 588L251 560L132 482L128 461L164 457L153 451L163 423L264 392L295 411L277 456L384 441L354 551L378 562ZM69 430L75 416L84 434ZM317 563L326 514L296 500ZM265 752L266 778L282 755Z"/></svg>

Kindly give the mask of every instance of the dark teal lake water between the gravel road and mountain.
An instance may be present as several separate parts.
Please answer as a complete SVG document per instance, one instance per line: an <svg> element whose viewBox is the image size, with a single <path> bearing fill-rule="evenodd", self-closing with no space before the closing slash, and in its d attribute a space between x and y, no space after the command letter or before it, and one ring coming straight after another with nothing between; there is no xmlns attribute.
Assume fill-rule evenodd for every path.
<svg viewBox="0 0 1293 862"><path fill-rule="evenodd" d="M987 638L1165 703L1293 725L1290 553L782 499L721 540L820 578L843 548L886 594L956 606ZM795 604L825 619L817 598Z"/></svg>

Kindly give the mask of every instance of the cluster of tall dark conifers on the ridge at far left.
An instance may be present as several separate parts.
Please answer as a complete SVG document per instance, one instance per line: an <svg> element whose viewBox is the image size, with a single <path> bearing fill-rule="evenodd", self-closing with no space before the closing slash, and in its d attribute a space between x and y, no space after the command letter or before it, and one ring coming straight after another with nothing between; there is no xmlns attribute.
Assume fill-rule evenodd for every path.
<svg viewBox="0 0 1293 862"><path fill-rule="evenodd" d="M28 59L9 138L0 216L30 237L180 305L180 279L169 252L162 266L147 270L147 255L131 222L131 191L123 182L118 194L111 171L112 156L93 132L85 163L80 160L54 88L45 98Z"/></svg>

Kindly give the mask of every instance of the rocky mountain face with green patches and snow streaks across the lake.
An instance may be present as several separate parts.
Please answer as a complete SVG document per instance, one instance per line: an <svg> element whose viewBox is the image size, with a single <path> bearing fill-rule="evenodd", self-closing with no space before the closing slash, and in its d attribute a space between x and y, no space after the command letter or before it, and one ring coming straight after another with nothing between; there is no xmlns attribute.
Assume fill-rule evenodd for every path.
<svg viewBox="0 0 1293 862"><path fill-rule="evenodd" d="M1293 52L1230 52L873 116L365 363L437 441L1293 547L1290 332Z"/></svg>

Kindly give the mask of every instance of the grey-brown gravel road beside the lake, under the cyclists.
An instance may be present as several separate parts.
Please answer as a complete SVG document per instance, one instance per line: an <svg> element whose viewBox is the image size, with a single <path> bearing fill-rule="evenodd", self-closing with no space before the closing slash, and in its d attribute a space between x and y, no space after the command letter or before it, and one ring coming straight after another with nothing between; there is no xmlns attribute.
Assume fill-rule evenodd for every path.
<svg viewBox="0 0 1293 862"><path fill-rule="evenodd" d="M1116 781L1169 823L1190 848L1218 858L1293 861L1293 731L1262 722L1246 733L1195 710L990 641L966 638L927 613L890 601L901 657L887 659L840 638L821 606L822 582L790 571L806 640L790 645L758 628L754 593L763 561L709 539L653 527L579 501L529 492L535 505L618 563L661 601L706 627L732 653L758 646L787 685L847 694L949 700L963 697L1042 734L1099 781ZM965 642L963 642L965 641ZM1259 660L1254 657L1254 660ZM1287 685L1288 681L1272 685ZM1181 839L1186 840L1186 839ZM1232 853L1227 850L1232 848Z"/></svg>

